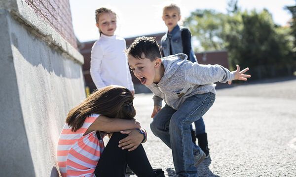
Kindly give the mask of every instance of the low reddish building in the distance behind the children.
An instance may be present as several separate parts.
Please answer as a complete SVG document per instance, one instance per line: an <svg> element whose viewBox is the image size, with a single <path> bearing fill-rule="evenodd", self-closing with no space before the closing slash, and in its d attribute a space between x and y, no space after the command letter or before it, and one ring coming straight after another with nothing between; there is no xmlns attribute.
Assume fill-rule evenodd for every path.
<svg viewBox="0 0 296 177"><path fill-rule="evenodd" d="M158 44L160 44L161 37L165 34L165 32L156 33L156 34L148 34L145 36L148 37L155 37ZM125 38L126 46L129 47L133 41L139 36L135 37L129 37ZM89 88L90 91L94 91L96 89L95 84L93 83L91 76L90 76L90 54L91 54L91 47L95 41L89 41L89 42L82 42L80 47L80 53L84 57L84 64L83 64L83 75L84 75L84 82L85 87ZM228 68L228 56L226 51L208 51L208 52L202 52L202 53L195 53L195 56L200 64L220 64L226 68ZM136 93L149 93L150 90L142 85L137 79L133 73L132 80L134 83L134 88ZM219 85L219 84L218 84Z"/></svg>

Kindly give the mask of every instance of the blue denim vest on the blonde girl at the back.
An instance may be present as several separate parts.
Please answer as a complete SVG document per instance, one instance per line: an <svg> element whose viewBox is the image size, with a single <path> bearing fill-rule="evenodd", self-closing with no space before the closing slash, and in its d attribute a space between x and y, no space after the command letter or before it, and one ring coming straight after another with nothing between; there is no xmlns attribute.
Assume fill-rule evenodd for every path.
<svg viewBox="0 0 296 177"><path fill-rule="evenodd" d="M163 51L162 57L167 57L170 55L170 41L172 47L172 55L183 53L183 44L181 32L183 27L177 25L169 34L168 31L162 36L160 49ZM171 38L171 39L170 39ZM190 50L190 56L188 56L191 62L197 62L193 50Z"/></svg>

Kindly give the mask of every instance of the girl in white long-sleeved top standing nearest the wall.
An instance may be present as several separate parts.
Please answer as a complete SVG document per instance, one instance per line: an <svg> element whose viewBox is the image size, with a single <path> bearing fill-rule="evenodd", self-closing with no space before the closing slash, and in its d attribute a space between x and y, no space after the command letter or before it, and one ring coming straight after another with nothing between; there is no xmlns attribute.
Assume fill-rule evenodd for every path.
<svg viewBox="0 0 296 177"><path fill-rule="evenodd" d="M125 40L114 35L116 14L108 8L96 10L96 26L100 38L91 50L90 75L97 89L119 85L128 88L134 94L134 85L124 50Z"/></svg>

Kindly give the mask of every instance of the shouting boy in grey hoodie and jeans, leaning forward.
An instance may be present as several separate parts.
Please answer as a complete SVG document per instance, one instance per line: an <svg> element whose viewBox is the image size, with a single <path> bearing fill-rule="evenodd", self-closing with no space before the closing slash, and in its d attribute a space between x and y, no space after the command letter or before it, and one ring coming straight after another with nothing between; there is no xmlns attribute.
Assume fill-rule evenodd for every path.
<svg viewBox="0 0 296 177"><path fill-rule="evenodd" d="M196 177L205 154L194 145L190 124L201 118L215 101L214 82L246 81L249 68L230 72L220 65L201 65L177 54L161 59L153 37L138 37L126 51L134 75L153 93L154 117L150 128L172 149L176 174ZM161 109L161 102L166 105Z"/></svg>

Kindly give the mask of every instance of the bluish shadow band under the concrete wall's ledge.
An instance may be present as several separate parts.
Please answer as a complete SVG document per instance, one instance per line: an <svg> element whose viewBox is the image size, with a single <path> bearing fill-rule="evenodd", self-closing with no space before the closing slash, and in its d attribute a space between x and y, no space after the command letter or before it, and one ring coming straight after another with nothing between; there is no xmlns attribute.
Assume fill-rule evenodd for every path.
<svg viewBox="0 0 296 177"><path fill-rule="evenodd" d="M47 72L54 73L59 77L80 78L81 65L71 59L69 55L62 52L56 46L50 46L42 41L42 36L37 36L35 31L26 28L16 22L10 16L10 37L14 46L23 59L32 66L42 66ZM17 56L20 57L20 56ZM69 69L71 67L72 69Z"/></svg>

